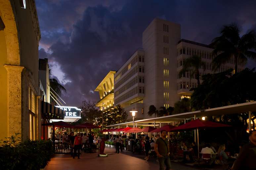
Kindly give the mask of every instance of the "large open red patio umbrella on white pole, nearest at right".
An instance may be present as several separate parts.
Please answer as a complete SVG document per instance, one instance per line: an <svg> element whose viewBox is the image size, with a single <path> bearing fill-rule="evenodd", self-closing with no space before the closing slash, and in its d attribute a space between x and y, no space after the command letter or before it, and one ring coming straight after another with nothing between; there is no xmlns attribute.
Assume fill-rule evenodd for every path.
<svg viewBox="0 0 256 170"><path fill-rule="evenodd" d="M192 120L188 123L180 125L178 127L173 128L171 131L183 131L183 130L197 130L197 149L198 149L198 158L199 158L199 136L198 136L198 129L206 129L206 128L217 128L217 127L231 127L227 124L216 123L212 121L205 121L201 119Z"/></svg>

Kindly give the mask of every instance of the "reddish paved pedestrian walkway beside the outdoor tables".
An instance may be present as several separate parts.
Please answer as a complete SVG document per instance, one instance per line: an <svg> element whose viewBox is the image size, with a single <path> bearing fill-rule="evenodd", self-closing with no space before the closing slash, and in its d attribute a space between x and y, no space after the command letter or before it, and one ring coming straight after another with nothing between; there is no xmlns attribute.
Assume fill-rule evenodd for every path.
<svg viewBox="0 0 256 170"><path fill-rule="evenodd" d="M146 162L143 155L132 155L131 152L115 153L113 148L106 148L105 153L108 157L98 157L98 153L83 153L81 159L72 159L69 154L55 154L45 170L158 170L159 164L155 161ZM174 170L194 170L188 166L172 163Z"/></svg>

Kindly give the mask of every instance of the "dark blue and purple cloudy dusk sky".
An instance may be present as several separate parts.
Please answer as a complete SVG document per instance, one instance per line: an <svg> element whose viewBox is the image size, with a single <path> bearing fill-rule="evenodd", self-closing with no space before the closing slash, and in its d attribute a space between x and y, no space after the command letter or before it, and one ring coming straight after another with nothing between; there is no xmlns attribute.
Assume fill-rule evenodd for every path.
<svg viewBox="0 0 256 170"><path fill-rule="evenodd" d="M35 0L41 40L39 58L66 88L69 106L99 100L94 89L110 70L142 47L142 32L159 17L181 24L181 37L209 44L224 24L241 34L256 30L256 1ZM245 3L246 2L246 3ZM256 67L249 60L246 67Z"/></svg>

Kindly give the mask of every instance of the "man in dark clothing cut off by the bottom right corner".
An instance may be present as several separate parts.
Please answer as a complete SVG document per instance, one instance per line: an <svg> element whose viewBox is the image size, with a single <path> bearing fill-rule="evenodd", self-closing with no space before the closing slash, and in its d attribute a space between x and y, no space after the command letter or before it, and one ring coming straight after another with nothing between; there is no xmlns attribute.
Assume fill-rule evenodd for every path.
<svg viewBox="0 0 256 170"><path fill-rule="evenodd" d="M256 169L256 130L249 132L249 140L250 143L241 148L232 170Z"/></svg>

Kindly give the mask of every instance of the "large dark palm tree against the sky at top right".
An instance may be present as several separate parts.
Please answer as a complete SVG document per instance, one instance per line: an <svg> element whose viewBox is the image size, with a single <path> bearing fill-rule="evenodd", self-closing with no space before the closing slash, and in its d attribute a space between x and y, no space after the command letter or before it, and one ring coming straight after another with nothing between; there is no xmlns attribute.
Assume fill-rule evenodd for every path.
<svg viewBox="0 0 256 170"><path fill-rule="evenodd" d="M211 46L214 47L212 55L216 57L212 60L212 69L217 70L222 64L235 58L235 73L237 64L245 63L247 58L256 59L256 53L250 50L256 49L256 32L251 30L240 37L240 28L236 23L224 25L221 29L221 36L212 40Z"/></svg>

